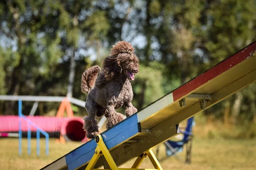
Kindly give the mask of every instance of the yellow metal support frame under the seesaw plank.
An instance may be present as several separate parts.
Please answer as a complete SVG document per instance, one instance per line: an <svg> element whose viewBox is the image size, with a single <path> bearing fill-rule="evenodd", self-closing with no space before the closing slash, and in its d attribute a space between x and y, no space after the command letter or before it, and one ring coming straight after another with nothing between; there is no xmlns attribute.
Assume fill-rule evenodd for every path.
<svg viewBox="0 0 256 170"><path fill-rule="evenodd" d="M163 170L161 165L157 161L157 158L154 156L154 153L152 152L152 150L148 150L145 153L142 153L140 156L138 156L138 158L136 159L136 161L134 162L134 164L132 165L131 168L118 168L116 166L116 163L113 160L111 154L109 153L108 148L106 147L105 143L103 142L102 136L97 135L95 138L95 141L97 143L95 153L85 170L99 170L99 169L93 169L93 167L95 166L96 162L99 160L99 157L102 155L104 155L111 170ZM147 156L150 159L150 161L152 162L155 169L137 169L140 166L143 159Z"/></svg>

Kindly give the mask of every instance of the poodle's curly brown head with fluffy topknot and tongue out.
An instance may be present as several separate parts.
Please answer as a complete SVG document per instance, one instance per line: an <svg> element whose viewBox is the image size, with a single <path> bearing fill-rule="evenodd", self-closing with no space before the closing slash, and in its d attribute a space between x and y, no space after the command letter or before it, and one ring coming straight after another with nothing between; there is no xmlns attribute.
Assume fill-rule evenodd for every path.
<svg viewBox="0 0 256 170"><path fill-rule="evenodd" d="M125 41L118 42L111 49L111 56L103 61L103 71L105 78L113 79L117 74L134 80L135 74L139 71L139 59L134 54L134 48Z"/></svg>

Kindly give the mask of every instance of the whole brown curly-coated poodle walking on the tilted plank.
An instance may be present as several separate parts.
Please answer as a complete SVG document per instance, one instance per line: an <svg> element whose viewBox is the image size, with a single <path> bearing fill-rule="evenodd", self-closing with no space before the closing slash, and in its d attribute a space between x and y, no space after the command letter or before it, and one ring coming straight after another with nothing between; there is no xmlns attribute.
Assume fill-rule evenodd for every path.
<svg viewBox="0 0 256 170"><path fill-rule="evenodd" d="M102 65L102 71L95 65L84 71L81 79L82 92L89 93L85 103L88 116L84 116L84 131L90 139L99 134L95 116L104 115L108 119L106 127L111 128L125 118L115 109L124 105L127 117L137 112L131 104L133 91L130 81L139 71L139 59L134 48L128 42L118 42Z"/></svg>

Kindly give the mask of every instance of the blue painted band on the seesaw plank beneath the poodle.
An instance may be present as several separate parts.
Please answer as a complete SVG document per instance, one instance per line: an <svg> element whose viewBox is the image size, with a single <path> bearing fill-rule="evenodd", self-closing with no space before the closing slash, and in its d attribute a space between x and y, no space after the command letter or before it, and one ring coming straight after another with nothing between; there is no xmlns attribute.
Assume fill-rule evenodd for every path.
<svg viewBox="0 0 256 170"><path fill-rule="evenodd" d="M131 136L133 136L138 132L140 132L140 127L138 127L137 115L134 114L128 119L125 119L124 121L115 125L110 130L106 130L101 135L108 149L111 149L112 147L125 141L126 139L130 138ZM80 157L82 157L83 159L81 160L81 162L79 162L79 164L82 165L86 163L92 158L95 148L96 148L95 140L94 139L90 140L89 142L81 145L80 147L68 153L65 156L66 163L70 164L72 162L72 164L76 164L78 160L80 160ZM70 166L73 167L73 165L70 165Z"/></svg>

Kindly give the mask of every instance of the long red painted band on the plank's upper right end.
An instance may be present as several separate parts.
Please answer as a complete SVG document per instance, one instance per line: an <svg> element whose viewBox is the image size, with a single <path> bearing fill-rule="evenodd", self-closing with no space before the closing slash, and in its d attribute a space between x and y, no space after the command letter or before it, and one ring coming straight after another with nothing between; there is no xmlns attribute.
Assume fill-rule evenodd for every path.
<svg viewBox="0 0 256 170"><path fill-rule="evenodd" d="M175 91L172 92L173 94L173 101L180 99L181 97L185 96L189 92L195 90L196 88L204 85L209 80L217 77L218 75L224 73L225 71L233 68L235 65L239 64L240 62L244 61L248 57L250 57L253 52L256 50L256 42L251 43L247 47L243 48L242 50L238 51L233 56L225 59L224 61L218 63L214 67L210 68L203 74L194 79L190 80L186 84L180 86Z"/></svg>

